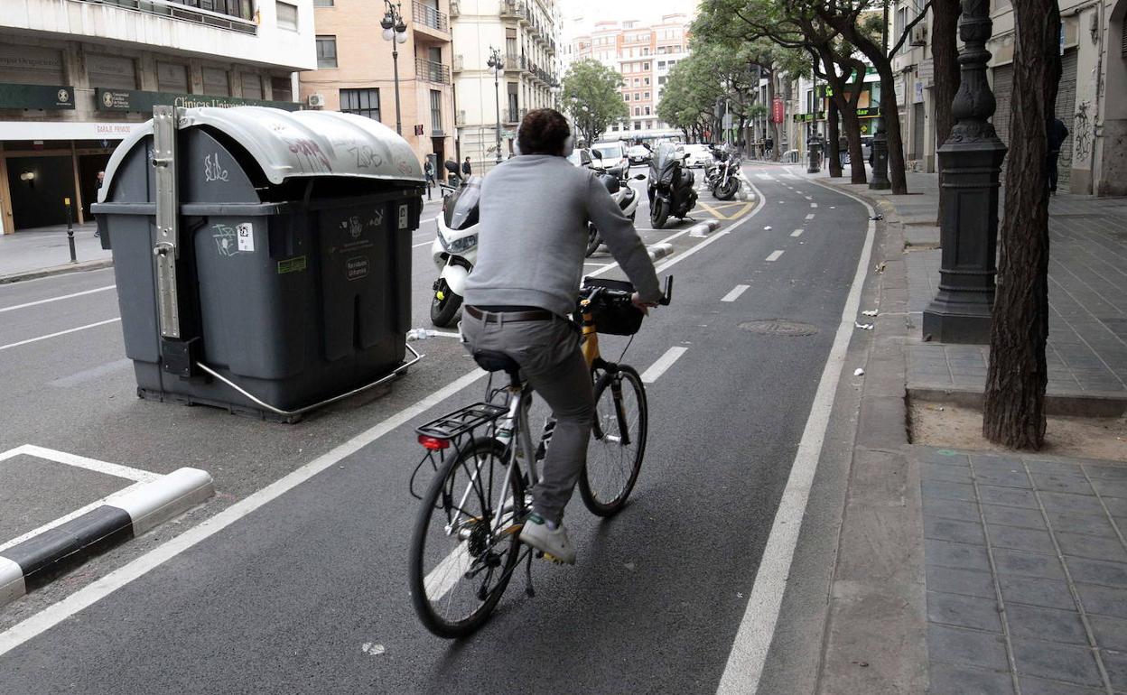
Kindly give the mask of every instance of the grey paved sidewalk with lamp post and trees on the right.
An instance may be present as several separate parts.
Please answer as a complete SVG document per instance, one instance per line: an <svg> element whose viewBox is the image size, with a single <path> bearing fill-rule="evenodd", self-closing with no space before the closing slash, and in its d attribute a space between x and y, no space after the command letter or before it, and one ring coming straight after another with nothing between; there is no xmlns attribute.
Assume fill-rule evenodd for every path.
<svg viewBox="0 0 1127 695"><path fill-rule="evenodd" d="M870 380L900 402L980 402L988 349L920 335L939 278L934 175L908 173L908 196L814 178L869 199L886 249L819 693L1127 693L1127 462L912 445L906 422L872 417ZM1127 199L1053 199L1061 406L1127 403L1122 230Z"/></svg>

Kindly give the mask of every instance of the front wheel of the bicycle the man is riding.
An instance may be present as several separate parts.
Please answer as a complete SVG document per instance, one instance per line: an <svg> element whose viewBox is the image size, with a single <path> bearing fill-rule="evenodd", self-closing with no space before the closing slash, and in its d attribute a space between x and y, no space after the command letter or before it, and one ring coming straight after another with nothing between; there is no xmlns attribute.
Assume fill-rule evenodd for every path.
<svg viewBox="0 0 1127 695"><path fill-rule="evenodd" d="M633 367L619 365L595 384L595 422L579 494L592 514L612 516L625 505L646 455L646 389Z"/></svg>

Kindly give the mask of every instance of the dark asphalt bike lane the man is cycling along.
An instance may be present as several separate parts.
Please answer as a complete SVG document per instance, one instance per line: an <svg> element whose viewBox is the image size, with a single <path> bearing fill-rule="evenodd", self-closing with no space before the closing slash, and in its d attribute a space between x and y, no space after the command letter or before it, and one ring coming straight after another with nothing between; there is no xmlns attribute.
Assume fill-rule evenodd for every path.
<svg viewBox="0 0 1127 695"><path fill-rule="evenodd" d="M576 498L578 564L534 563L535 598L515 577L494 620L463 643L432 638L410 608L411 427L479 396L476 382L0 656L0 689L715 690L866 223L860 205L835 197L842 212L819 232L804 196L755 182L766 208L669 268L674 304L627 355L645 371L685 348L648 386L650 438L632 504L596 522ZM721 301L738 285L748 288ZM740 327L779 319L815 330ZM622 345L605 340L605 356Z"/></svg>

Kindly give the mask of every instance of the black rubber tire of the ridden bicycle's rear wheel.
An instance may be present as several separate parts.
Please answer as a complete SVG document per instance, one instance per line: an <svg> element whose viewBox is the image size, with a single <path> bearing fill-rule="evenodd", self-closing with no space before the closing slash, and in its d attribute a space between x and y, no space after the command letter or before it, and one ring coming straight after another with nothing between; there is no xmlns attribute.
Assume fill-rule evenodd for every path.
<svg viewBox="0 0 1127 695"><path fill-rule="evenodd" d="M477 583L477 579L465 582L468 579L467 573L473 570L474 567L486 567L478 565L477 562L480 560L483 552L478 549L473 549L474 543L480 543L481 540L474 541L473 534L476 533L476 527L480 525L481 519L486 520L485 528L489 528L494 518L494 511L490 507L496 502L491 499L492 494L499 493L500 481L504 480L505 471L507 469L506 463L506 447L498 440L489 437L478 437L470 443L469 446L462 448L462 451L454 452L450 454L443 462L440 469L440 475L431 482L427 488L427 492L424 496L424 505L419 509L418 516L415 520L415 529L411 534L411 547L410 547L410 559L408 563L409 573L409 586L411 594L411 603L415 606L415 613L418 615L419 621L423 625L429 630L433 634L440 638L455 639L463 638L471 634L473 631L478 630L485 622L489 618L489 614L492 613L494 608L497 607L497 602L500 600L502 595L505 592L505 588L508 586L509 580L513 577L513 572L516 569L517 560L520 558L521 542L520 532L512 531L512 526L508 527L508 532L503 528L500 534L507 535L506 538L494 540L486 538L485 542L488 544L483 551L488 553L494 553L495 547L500 547L500 551L494 553L503 558L500 562L500 568L489 568L485 578L485 582L488 581L497 573L499 569L499 577L496 585L488 588L486 591L485 583L477 591L470 595L470 600L465 602L471 604L472 609L469 611L464 616L452 620L445 615L440 614L436 611L434 600L444 602L447 607L453 603L453 599L447 599L447 596L454 594L458 585L463 583L462 588L471 588ZM463 466L467 461L472 461L474 456L485 454L491 456L494 462L491 463L492 469L490 469L490 483L496 484L494 488L489 487L489 490L483 496L487 500L485 514L477 517L471 517L477 519L473 527L469 527L469 536L465 541L462 541L453 546L453 550L449 554L445 553L444 547L436 547L428 551L427 538L428 531L432 529L432 519L436 511L447 511L447 504L452 507L456 507L459 502L453 501L454 497L460 497L464 488L452 482L454 476L459 474L460 471L469 473L469 469ZM499 480L494 480L495 476L499 474ZM479 478L480 480L480 478ZM450 484L450 490L447 490L447 483ZM521 472L517 467L513 469L513 476L511 480L511 489L513 491L512 499L514 500L513 518L523 518L524 506L525 506L525 494L524 494L524 480L521 476ZM485 488L485 481L482 481L482 488ZM443 499L443 498L446 499ZM471 494L469 497L476 497L480 501L481 494ZM467 501L467 507L470 506L470 501ZM463 509L463 511L465 511ZM438 522L438 528L445 528L443 519L440 517L436 519ZM449 522L449 516L447 519ZM441 536L438 536L441 538ZM453 538L446 534L447 542L453 542ZM495 545L496 543L496 545ZM477 552L478 554L473 554ZM442 560L437 562L434 569L428 570L425 564L428 556L441 556ZM468 565L465 563L469 563ZM444 567L445 565L445 567ZM443 569L444 568L444 569ZM436 572L443 569L441 574ZM454 574L453 583L450 583L451 572L458 572L461 574ZM433 600L428 596L428 583L431 589L440 591L438 595ZM450 586L445 586L450 583ZM485 591L485 596L481 592ZM460 592L462 598L465 597L464 591ZM462 602L460 602L462 603Z"/></svg>

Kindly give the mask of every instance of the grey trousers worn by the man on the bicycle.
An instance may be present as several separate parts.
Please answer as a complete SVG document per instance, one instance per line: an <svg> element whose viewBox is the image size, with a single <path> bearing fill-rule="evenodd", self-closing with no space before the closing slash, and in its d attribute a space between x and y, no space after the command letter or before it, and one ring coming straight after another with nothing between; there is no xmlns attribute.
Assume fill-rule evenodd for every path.
<svg viewBox="0 0 1127 695"><path fill-rule="evenodd" d="M532 508L558 523L587 460L595 413L591 369L579 351L578 331L560 318L486 323L465 313L462 336L471 354L474 349L496 350L516 360L532 389L552 409L556 430L540 483L532 491Z"/></svg>

